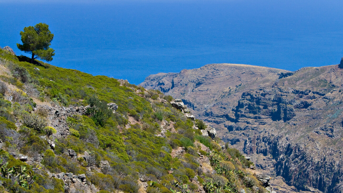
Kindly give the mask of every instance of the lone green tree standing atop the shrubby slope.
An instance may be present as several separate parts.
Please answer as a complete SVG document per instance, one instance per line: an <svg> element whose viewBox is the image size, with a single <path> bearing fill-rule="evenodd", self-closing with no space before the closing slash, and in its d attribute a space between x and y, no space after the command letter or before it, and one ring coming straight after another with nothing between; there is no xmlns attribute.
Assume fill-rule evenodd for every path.
<svg viewBox="0 0 343 193"><path fill-rule="evenodd" d="M35 26L24 27L20 35L23 44L17 44L17 47L25 53L32 54L32 61L37 58L51 61L52 56L55 56L55 50L49 47L54 38L49 25L38 23Z"/></svg>

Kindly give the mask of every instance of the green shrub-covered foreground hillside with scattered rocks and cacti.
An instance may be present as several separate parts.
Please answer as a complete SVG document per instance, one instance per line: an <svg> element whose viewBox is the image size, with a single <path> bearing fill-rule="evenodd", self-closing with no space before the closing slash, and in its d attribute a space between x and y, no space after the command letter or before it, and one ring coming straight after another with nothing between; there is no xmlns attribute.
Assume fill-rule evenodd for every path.
<svg viewBox="0 0 343 193"><path fill-rule="evenodd" d="M250 161L203 136L170 96L25 60L0 49L1 192L266 191Z"/></svg>

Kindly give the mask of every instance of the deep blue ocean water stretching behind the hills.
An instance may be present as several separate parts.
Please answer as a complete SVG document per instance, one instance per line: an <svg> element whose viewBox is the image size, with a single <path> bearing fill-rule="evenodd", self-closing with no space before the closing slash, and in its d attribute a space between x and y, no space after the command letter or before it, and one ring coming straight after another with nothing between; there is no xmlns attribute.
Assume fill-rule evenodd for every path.
<svg viewBox="0 0 343 193"><path fill-rule="evenodd" d="M297 70L343 57L342 0L0 0L0 46L55 34L50 64L138 84L212 63Z"/></svg>

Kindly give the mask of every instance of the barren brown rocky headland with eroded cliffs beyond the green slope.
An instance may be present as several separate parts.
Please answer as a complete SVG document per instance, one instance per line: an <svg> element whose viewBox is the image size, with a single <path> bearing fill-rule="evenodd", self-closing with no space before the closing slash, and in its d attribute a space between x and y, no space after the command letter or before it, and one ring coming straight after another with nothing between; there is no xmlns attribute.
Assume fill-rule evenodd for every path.
<svg viewBox="0 0 343 193"><path fill-rule="evenodd" d="M222 139L288 184L343 192L342 77L338 65L289 72L213 64L151 75L141 86L181 98Z"/></svg>

